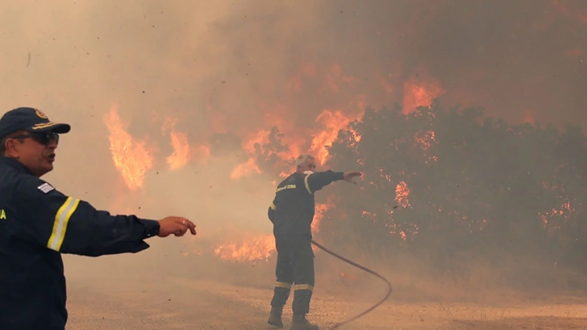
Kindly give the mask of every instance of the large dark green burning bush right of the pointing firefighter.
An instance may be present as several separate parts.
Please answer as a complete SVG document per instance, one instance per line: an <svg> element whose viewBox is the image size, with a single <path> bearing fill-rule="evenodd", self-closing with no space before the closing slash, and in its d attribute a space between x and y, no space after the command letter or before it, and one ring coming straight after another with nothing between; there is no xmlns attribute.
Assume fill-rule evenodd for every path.
<svg viewBox="0 0 587 330"><path fill-rule="evenodd" d="M323 238L381 257L400 247L435 260L525 250L583 266L573 259L587 233L581 130L482 116L437 104L367 109L329 148L329 167L365 176L360 193L326 211Z"/></svg>

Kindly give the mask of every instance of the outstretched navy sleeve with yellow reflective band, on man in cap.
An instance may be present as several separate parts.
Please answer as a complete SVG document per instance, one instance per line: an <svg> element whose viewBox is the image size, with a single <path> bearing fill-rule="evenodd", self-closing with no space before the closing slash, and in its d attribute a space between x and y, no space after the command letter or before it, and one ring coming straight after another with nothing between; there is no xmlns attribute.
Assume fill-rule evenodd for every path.
<svg viewBox="0 0 587 330"><path fill-rule="evenodd" d="M62 253L97 257L145 250L149 244L143 240L158 234L156 220L98 211L58 190L45 193L38 188L42 184L41 179L26 178L16 188L16 211L22 215L16 225L25 240Z"/></svg>

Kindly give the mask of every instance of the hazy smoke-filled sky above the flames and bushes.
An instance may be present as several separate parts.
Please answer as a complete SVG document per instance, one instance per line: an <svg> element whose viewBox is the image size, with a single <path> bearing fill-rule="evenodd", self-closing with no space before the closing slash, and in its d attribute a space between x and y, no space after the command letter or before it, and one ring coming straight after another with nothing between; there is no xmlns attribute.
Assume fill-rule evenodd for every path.
<svg viewBox="0 0 587 330"><path fill-rule="evenodd" d="M0 105L72 123L50 175L81 193L119 180L113 105L159 170L166 116L192 144L278 125L308 146L322 110L402 102L409 79L511 123L587 124L586 17L582 1L6 1Z"/></svg>

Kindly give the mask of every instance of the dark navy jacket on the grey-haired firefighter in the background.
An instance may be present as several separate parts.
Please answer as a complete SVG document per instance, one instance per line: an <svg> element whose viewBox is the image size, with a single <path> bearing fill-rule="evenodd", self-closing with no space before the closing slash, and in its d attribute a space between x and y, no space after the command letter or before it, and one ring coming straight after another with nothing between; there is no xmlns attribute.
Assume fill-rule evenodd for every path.
<svg viewBox="0 0 587 330"><path fill-rule="evenodd" d="M268 209L275 235L303 234L312 237L315 213L315 191L333 181L343 180L344 173L323 171L312 174L294 173L281 181Z"/></svg>

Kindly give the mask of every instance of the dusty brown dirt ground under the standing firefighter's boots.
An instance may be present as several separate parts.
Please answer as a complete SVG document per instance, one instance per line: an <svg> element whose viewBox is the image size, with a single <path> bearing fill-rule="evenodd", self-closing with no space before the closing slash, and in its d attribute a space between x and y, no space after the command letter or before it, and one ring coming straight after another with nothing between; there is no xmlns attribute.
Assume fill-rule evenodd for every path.
<svg viewBox="0 0 587 330"><path fill-rule="evenodd" d="M252 288L185 278L69 281L68 329L184 330L264 329L270 288ZM291 301L290 301L291 302ZM317 293L309 316L322 329L367 308L367 301L348 301ZM286 328L291 311L286 308ZM585 304L410 303L390 298L382 307L346 326L348 330L424 329L586 329Z"/></svg>

